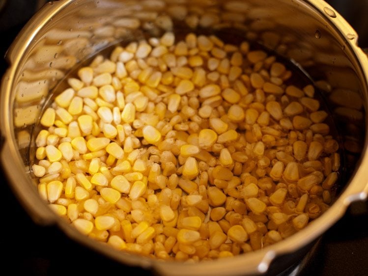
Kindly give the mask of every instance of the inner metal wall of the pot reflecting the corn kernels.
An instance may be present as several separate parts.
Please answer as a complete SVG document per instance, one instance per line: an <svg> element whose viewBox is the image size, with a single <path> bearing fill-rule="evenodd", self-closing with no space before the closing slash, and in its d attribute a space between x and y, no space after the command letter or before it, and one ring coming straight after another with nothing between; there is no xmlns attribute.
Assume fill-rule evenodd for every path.
<svg viewBox="0 0 368 276"><path fill-rule="evenodd" d="M47 9L54 5L47 4ZM329 20L335 20L332 11L317 12L302 0L64 1L25 42L8 103L13 107L11 135L29 179L37 122L49 99L62 91L64 77L116 43L173 30L179 38L197 32L246 39L301 66L319 88L339 134L340 193L364 147L367 83L347 43L356 37L340 35Z"/></svg>

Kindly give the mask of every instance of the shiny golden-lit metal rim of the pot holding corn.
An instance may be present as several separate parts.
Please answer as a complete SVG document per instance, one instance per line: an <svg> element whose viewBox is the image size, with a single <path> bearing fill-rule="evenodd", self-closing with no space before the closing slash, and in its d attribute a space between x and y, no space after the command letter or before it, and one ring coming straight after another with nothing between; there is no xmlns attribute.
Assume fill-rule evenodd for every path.
<svg viewBox="0 0 368 276"><path fill-rule="evenodd" d="M28 24L22 29L13 42L6 58L9 62L9 68L6 71L1 83L1 113L0 113L0 128L4 141L1 148L1 162L5 168L5 172L9 179L9 185L12 190L24 205L32 219L42 225L57 225L63 232L75 241L83 245L93 248L96 251L128 265L139 265L143 268L154 268L163 275L187 275L190 270L195 275L212 275L221 274L224 267L231 268L229 275L240 275L247 273L259 274L268 270L269 265L276 256L283 255L295 251L298 248L308 245L315 240L336 221L338 221L345 213L349 204L356 200L364 200L368 193L368 174L362 164L368 164L367 152L367 133L365 137L365 146L354 175L351 177L345 191L343 191L336 202L318 219L312 221L306 228L293 234L287 239L280 241L267 248L225 258L221 260L203 261L195 264L182 263L175 261L158 261L148 257L142 257L127 252L119 252L112 250L110 247L101 245L93 241L85 235L79 233L74 227L64 221L62 218L53 213L47 204L43 203L38 196L36 189L33 187L30 179L26 174L12 174L11 171L24 171L24 165L21 162L21 157L17 149L15 137L13 133L13 113L10 102L10 91L14 89L13 82L17 75L17 64L23 58L23 53L30 45L32 39L37 32L49 22L60 10L70 5L73 0L59 0L46 4L38 11ZM296 4L294 1L294 4ZM358 47L358 35L355 30L345 21L345 19L329 4L323 0L300 0L307 8L314 9L320 15L326 17L331 26L340 33L341 36L347 37L353 35L353 39L346 38L346 45L350 47L355 58L359 60L359 66L363 72L365 80L365 90L367 95L367 80L368 80L368 58L361 48ZM332 18L326 14L326 8L335 12L336 17ZM368 113L368 112L367 112ZM366 113L366 120L367 120ZM27 185L25 185L27 183ZM35 204L34 202L39 202Z"/></svg>

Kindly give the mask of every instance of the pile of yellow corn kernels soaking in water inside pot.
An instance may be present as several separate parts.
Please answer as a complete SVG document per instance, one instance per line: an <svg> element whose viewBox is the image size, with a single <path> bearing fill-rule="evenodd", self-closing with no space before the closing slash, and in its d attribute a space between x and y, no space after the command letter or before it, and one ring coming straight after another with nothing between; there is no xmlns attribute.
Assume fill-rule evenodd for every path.
<svg viewBox="0 0 368 276"><path fill-rule="evenodd" d="M331 202L339 144L313 86L249 48L167 32L96 56L41 117L40 195L85 235L160 259L304 228Z"/></svg>

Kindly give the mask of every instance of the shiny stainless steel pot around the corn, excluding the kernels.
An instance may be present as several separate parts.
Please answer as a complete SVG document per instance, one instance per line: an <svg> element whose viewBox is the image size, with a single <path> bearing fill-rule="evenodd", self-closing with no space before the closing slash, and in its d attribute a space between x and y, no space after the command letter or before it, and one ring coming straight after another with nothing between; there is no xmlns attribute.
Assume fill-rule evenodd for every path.
<svg viewBox="0 0 368 276"><path fill-rule="evenodd" d="M255 252L196 264L162 262L118 252L95 242L54 214L32 182L34 125L50 92L78 62L120 41L166 30L227 33L260 43L293 60L320 88L346 153L335 202L291 237ZM7 53L1 84L1 161L11 188L34 221L57 224L71 239L118 262L162 275L266 273L280 256L311 244L368 193L365 109L368 59L357 34L323 0L59 0L46 4ZM285 258L283 259L285 260ZM285 262L286 264L286 262Z"/></svg>

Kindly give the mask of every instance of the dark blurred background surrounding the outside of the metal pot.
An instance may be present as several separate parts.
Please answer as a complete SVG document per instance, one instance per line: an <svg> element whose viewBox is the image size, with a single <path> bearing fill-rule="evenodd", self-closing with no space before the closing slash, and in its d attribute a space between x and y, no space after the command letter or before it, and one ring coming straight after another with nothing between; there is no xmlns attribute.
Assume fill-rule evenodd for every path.
<svg viewBox="0 0 368 276"><path fill-rule="evenodd" d="M0 76L2 58L17 33L45 0L0 0ZM368 0L329 0L368 47ZM368 275L368 204L351 206L346 215L322 237L320 246L301 275ZM34 224L19 205L0 171L1 275L141 275L140 270L116 264L67 239L53 227ZM149 272L145 272L149 275Z"/></svg>

